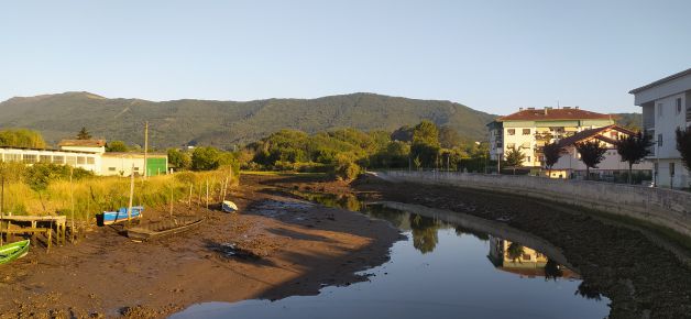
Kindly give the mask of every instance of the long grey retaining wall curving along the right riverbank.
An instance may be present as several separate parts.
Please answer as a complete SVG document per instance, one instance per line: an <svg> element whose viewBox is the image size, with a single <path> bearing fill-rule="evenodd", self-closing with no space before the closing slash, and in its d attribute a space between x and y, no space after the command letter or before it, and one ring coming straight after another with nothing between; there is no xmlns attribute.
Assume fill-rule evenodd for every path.
<svg viewBox="0 0 691 319"><path fill-rule="evenodd" d="M673 229L691 238L691 194L685 191L534 176L453 172L386 172L377 176L392 182L451 185L544 198L630 217Z"/></svg>

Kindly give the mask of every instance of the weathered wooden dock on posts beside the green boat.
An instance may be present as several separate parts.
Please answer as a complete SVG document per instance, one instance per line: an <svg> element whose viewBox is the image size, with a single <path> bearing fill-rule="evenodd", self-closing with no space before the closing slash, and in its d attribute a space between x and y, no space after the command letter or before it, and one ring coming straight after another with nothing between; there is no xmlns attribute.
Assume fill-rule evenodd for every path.
<svg viewBox="0 0 691 319"><path fill-rule="evenodd" d="M65 216L3 215L1 218L6 224L0 226L0 235L31 234L34 239L36 233L43 233L48 240L50 251L53 242L53 229L55 228L57 244L65 244L66 242L67 217ZM32 240L32 242L35 241Z"/></svg>

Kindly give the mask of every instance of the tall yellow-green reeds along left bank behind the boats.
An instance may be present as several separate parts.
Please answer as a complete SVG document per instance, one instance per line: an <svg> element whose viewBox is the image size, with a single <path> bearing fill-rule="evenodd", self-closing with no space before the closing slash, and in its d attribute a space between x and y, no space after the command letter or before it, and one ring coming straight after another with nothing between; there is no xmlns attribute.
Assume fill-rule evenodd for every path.
<svg viewBox="0 0 691 319"><path fill-rule="evenodd" d="M206 198L207 183L209 198L213 201L221 194L228 170L176 173L134 180L133 205L163 207L174 201L187 201L193 186L193 199ZM237 185L237 176L229 184ZM13 215L66 215L72 216L72 194L74 194L75 219L92 218L96 213L127 207L130 195L130 177L97 176L69 183L52 180L43 191L35 191L22 182L4 185L3 213Z"/></svg>

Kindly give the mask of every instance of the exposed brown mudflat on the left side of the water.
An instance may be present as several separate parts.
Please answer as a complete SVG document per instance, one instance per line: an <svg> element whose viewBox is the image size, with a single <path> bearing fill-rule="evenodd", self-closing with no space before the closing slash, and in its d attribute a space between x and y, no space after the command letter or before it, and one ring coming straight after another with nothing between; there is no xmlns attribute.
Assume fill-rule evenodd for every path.
<svg viewBox="0 0 691 319"><path fill-rule="evenodd" d="M387 223L272 195L261 180L233 193L240 213L179 205L206 217L185 234L141 243L106 227L50 254L32 248L0 267L0 317L165 317L202 301L314 295L388 260L399 234Z"/></svg>

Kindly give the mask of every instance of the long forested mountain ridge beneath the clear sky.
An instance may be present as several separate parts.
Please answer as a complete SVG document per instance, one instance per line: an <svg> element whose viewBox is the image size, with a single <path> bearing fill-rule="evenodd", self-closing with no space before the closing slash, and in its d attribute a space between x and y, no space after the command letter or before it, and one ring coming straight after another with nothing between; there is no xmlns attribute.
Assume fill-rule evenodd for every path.
<svg viewBox="0 0 691 319"><path fill-rule="evenodd" d="M0 103L0 128L28 128L46 142L74 136L86 127L96 138L143 144L144 122L150 144L164 148L184 144L229 148L281 129L308 133L337 129L393 131L428 119L449 125L461 136L484 140L495 116L460 103L374 94L317 99L267 99L248 102L211 100L147 101L108 99L89 92L11 98Z"/></svg>

